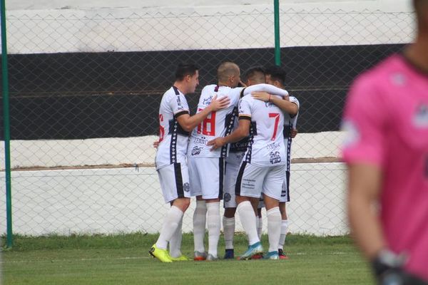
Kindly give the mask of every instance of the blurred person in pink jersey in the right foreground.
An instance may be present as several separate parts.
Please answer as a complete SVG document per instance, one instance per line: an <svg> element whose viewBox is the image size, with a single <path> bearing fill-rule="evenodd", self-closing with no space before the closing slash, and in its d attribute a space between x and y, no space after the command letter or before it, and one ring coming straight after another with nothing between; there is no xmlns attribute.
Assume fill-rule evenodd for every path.
<svg viewBox="0 0 428 285"><path fill-rule="evenodd" d="M428 284L428 0L416 41L363 73L345 105L352 236L379 284Z"/></svg>

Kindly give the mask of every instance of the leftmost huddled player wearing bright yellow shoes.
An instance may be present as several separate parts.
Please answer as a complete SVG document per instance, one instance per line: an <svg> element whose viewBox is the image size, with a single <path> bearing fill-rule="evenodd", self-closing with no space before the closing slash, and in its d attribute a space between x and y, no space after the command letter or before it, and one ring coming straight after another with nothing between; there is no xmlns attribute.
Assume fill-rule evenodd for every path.
<svg viewBox="0 0 428 285"><path fill-rule="evenodd" d="M188 135L195 126L210 115L229 105L229 98L217 100L200 113L189 115L185 94L194 93L199 84L198 68L193 64L180 64L175 71L175 82L162 97L159 108L159 145L156 152L156 170L165 202L171 207L166 214L156 244L149 253L163 262L188 260L180 252L183 214L190 204L190 185L185 154ZM167 250L170 244L170 253Z"/></svg>

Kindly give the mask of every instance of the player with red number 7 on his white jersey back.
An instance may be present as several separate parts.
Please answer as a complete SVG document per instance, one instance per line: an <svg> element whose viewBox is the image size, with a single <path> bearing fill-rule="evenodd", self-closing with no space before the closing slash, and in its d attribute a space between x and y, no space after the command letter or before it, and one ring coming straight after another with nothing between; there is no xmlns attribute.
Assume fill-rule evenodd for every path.
<svg viewBox="0 0 428 285"><path fill-rule="evenodd" d="M263 70L253 73L265 81ZM253 77L251 76L251 77ZM286 91L285 91L286 93ZM275 96L275 95L274 95ZM270 102L245 95L239 103L239 125L224 138L210 140L213 150L226 143L237 142L249 134L248 148L241 162L235 187L237 210L245 232L248 234L248 250L240 259L251 259L263 254L256 229L255 214L263 190L267 209L269 251L267 259L279 259L277 246L280 239L281 214L278 207L282 181L285 176L285 147L283 142L282 110Z"/></svg>

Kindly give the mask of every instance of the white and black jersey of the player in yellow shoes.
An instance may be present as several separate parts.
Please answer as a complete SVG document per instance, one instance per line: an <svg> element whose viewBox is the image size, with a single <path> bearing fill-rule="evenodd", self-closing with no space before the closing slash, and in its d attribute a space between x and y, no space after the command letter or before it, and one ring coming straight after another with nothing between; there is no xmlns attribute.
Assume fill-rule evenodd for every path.
<svg viewBox="0 0 428 285"><path fill-rule="evenodd" d="M181 128L178 116L189 113L185 95L175 86L162 97L159 108L159 140L156 152L156 169L176 162L185 163L189 133Z"/></svg>

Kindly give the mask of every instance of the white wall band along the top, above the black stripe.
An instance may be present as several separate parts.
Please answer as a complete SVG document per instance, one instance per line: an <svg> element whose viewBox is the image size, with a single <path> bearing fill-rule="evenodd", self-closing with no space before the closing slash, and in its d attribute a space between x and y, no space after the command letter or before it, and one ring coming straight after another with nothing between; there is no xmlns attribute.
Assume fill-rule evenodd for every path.
<svg viewBox="0 0 428 285"><path fill-rule="evenodd" d="M8 2L9 53L274 46L267 0ZM409 2L281 1L281 46L408 43Z"/></svg>

